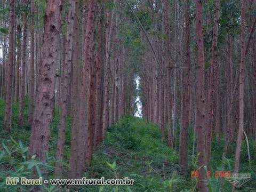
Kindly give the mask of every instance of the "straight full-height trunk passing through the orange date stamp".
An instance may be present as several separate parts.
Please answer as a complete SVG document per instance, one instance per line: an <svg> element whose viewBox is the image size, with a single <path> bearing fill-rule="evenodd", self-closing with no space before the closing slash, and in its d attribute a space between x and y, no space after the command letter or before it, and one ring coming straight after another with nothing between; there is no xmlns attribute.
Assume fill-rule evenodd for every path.
<svg viewBox="0 0 256 192"><path fill-rule="evenodd" d="M206 129L206 105L205 105L205 77L204 77L204 39L203 39L203 19L202 19L202 1L196 1L196 38L197 38L197 90L196 90L196 129L197 129L197 153L198 157L198 167L199 177L197 188L198 191L208 191L206 188L205 181L205 129Z"/></svg>

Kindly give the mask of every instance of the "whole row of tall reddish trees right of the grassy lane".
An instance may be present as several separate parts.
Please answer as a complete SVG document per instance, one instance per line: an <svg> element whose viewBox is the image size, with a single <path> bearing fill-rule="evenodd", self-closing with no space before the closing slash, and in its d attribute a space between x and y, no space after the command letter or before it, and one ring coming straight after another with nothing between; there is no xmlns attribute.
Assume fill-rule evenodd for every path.
<svg viewBox="0 0 256 192"><path fill-rule="evenodd" d="M219 0L150 3L139 7L154 18L148 34L141 33L143 44L151 42L142 55L143 117L159 125L170 147L179 147L179 163L186 174L188 132L193 130L192 155L199 154L201 167L198 190L206 191L204 165L210 170L214 137L220 144L224 135L223 158L230 143L236 142L236 150L231 149L236 153L235 173L243 134L256 139L256 4Z"/></svg>

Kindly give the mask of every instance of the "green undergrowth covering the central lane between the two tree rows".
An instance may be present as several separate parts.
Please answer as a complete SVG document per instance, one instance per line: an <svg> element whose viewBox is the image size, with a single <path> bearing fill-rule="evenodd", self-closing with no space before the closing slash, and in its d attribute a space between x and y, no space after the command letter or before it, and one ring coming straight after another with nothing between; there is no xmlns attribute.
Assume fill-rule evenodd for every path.
<svg viewBox="0 0 256 192"><path fill-rule="evenodd" d="M106 163L116 163L116 171ZM125 116L110 127L105 141L94 153L86 178L134 179L134 185L118 191L182 191L185 178L179 175L178 154L161 141L161 131L143 119ZM115 177L116 173L116 177ZM97 186L78 188L97 191ZM113 186L103 187L111 191ZM117 191L117 189L116 189Z"/></svg>

